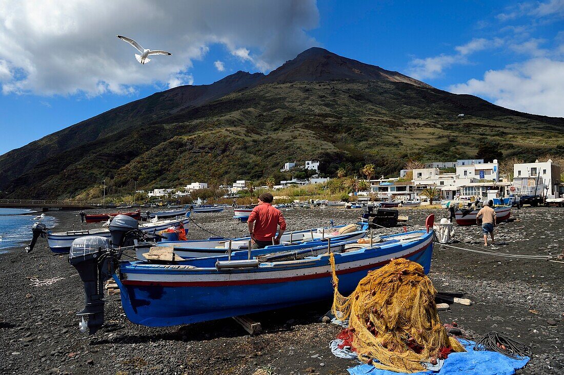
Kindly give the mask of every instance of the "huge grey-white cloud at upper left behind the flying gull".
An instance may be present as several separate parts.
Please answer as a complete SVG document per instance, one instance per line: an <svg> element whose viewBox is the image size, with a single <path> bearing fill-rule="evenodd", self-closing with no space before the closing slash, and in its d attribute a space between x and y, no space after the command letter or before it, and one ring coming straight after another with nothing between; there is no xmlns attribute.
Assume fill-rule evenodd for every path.
<svg viewBox="0 0 564 375"><path fill-rule="evenodd" d="M214 43L268 70L316 45L306 30L319 23L314 0L0 0L0 8L5 94L127 94L142 84L190 82L185 72ZM140 65L116 34L173 55Z"/></svg>

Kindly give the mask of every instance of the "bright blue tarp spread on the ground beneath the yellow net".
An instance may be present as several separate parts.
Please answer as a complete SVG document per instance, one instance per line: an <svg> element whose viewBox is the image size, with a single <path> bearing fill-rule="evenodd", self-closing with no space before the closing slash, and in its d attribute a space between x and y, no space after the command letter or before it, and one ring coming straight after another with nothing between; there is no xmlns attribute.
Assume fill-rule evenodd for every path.
<svg viewBox="0 0 564 375"><path fill-rule="evenodd" d="M416 372L411 375L512 375L516 369L525 367L530 360L528 357L522 360L511 359L493 351L475 351L473 341L460 340L460 343L467 351L449 354L439 372ZM351 375L398 375L397 372L377 369L368 364L358 365L347 371Z"/></svg>

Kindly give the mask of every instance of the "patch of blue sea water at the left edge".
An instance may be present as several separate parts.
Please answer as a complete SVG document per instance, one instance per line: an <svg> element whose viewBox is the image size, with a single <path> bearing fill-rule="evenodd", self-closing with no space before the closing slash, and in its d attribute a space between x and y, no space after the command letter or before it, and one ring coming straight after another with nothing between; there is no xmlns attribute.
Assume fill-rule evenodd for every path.
<svg viewBox="0 0 564 375"><path fill-rule="evenodd" d="M35 223L34 217L41 213L32 213L28 209L8 209L0 208L0 253L5 253L8 249L24 248L26 242L32 239L32 226ZM47 228L52 228L56 224L56 219L45 216L41 220Z"/></svg>

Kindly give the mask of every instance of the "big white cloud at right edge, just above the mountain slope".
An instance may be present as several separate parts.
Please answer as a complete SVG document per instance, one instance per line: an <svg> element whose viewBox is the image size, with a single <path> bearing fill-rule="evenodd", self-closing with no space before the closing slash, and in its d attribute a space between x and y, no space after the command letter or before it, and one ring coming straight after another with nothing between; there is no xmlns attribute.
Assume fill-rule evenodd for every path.
<svg viewBox="0 0 564 375"><path fill-rule="evenodd" d="M501 70L488 70L483 80L472 79L449 90L483 96L517 111L564 117L564 61L531 59Z"/></svg>

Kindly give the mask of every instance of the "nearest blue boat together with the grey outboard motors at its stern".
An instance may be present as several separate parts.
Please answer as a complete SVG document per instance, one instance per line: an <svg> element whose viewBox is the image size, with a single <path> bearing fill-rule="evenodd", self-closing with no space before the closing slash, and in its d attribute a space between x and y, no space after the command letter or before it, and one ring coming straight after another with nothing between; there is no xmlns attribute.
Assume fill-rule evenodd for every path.
<svg viewBox="0 0 564 375"><path fill-rule="evenodd" d="M158 263L120 261L125 239L138 223L122 217L111 225L112 244L103 237L73 242L69 262L84 283L86 306L82 332L96 332L104 322L103 283L113 276L127 318L149 327L197 323L251 314L331 298L332 262L342 294L355 289L371 270L393 258L420 263L428 273L433 252L434 215L426 231L339 241L290 252L257 254L239 250L232 258L205 257ZM149 249L140 243L135 248ZM113 247L112 247L113 246ZM241 259L240 254L248 254ZM117 268L119 272L116 274ZM87 317L87 320L85 320Z"/></svg>

